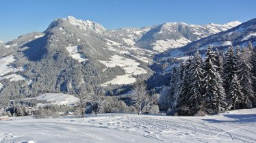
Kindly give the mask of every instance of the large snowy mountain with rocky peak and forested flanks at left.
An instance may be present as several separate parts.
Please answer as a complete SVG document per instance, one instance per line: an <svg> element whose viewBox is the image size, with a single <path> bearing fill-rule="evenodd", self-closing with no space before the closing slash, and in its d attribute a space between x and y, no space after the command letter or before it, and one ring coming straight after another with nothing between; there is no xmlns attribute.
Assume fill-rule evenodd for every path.
<svg viewBox="0 0 256 143"><path fill-rule="evenodd" d="M42 33L21 35L1 47L0 94L76 94L81 86L132 84L150 76L153 52L112 35L71 16L51 22Z"/></svg>

